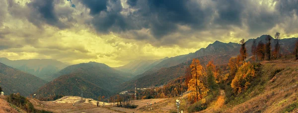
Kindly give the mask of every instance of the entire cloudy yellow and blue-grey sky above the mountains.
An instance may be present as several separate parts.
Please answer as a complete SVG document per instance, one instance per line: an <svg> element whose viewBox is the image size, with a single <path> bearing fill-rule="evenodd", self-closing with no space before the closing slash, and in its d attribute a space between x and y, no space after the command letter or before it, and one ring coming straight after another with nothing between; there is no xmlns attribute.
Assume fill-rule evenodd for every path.
<svg viewBox="0 0 298 113"><path fill-rule="evenodd" d="M298 0L0 0L0 57L112 67L216 40L298 37Z"/></svg>

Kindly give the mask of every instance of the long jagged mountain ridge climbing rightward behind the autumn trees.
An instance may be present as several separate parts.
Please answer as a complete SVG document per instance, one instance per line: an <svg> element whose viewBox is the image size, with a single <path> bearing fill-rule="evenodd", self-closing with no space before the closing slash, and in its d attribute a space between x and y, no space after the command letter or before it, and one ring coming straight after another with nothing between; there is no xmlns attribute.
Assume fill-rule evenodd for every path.
<svg viewBox="0 0 298 113"><path fill-rule="evenodd" d="M245 42L248 54L251 55L251 45L253 40L256 40L256 44L259 41L266 42L267 35L262 35L256 39L249 39ZM271 48L274 50L274 39L271 37ZM280 39L281 54L290 54L294 51L295 43L298 38ZM227 64L230 57L235 57L239 54L240 44L237 43L222 43L215 41L213 44L208 45L206 48L202 48L195 53L188 55L174 56L167 58L154 67L137 75L132 80L122 84L122 88L119 91L132 89L137 81L138 87L149 87L152 83L162 85L169 82L169 80L183 76L185 72L186 64L190 64L193 58L199 58L201 63L214 60L215 64ZM153 84L154 84L153 83Z"/></svg>

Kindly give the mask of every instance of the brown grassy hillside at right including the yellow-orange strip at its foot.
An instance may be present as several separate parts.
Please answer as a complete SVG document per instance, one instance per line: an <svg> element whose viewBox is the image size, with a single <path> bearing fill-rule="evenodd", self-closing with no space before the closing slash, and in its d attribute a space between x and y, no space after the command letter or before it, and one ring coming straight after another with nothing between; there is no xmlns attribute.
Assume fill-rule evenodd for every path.
<svg viewBox="0 0 298 113"><path fill-rule="evenodd" d="M298 61L289 56L262 61L256 72L248 89L240 94L233 93L229 80L219 84L220 95L199 113L298 112Z"/></svg>

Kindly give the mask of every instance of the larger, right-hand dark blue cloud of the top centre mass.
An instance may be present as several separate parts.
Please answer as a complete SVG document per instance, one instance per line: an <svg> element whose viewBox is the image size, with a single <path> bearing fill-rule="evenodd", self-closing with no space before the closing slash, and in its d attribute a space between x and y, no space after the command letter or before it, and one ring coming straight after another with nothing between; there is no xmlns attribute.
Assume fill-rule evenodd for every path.
<svg viewBox="0 0 298 113"><path fill-rule="evenodd" d="M196 29L205 28L206 20L212 14L212 9L203 9L200 4L191 0L148 0L146 4L138 1L128 2L139 9L135 14L146 19L145 23L149 25L151 35L156 39L177 31L178 24ZM136 3L138 4L135 5Z"/></svg>

